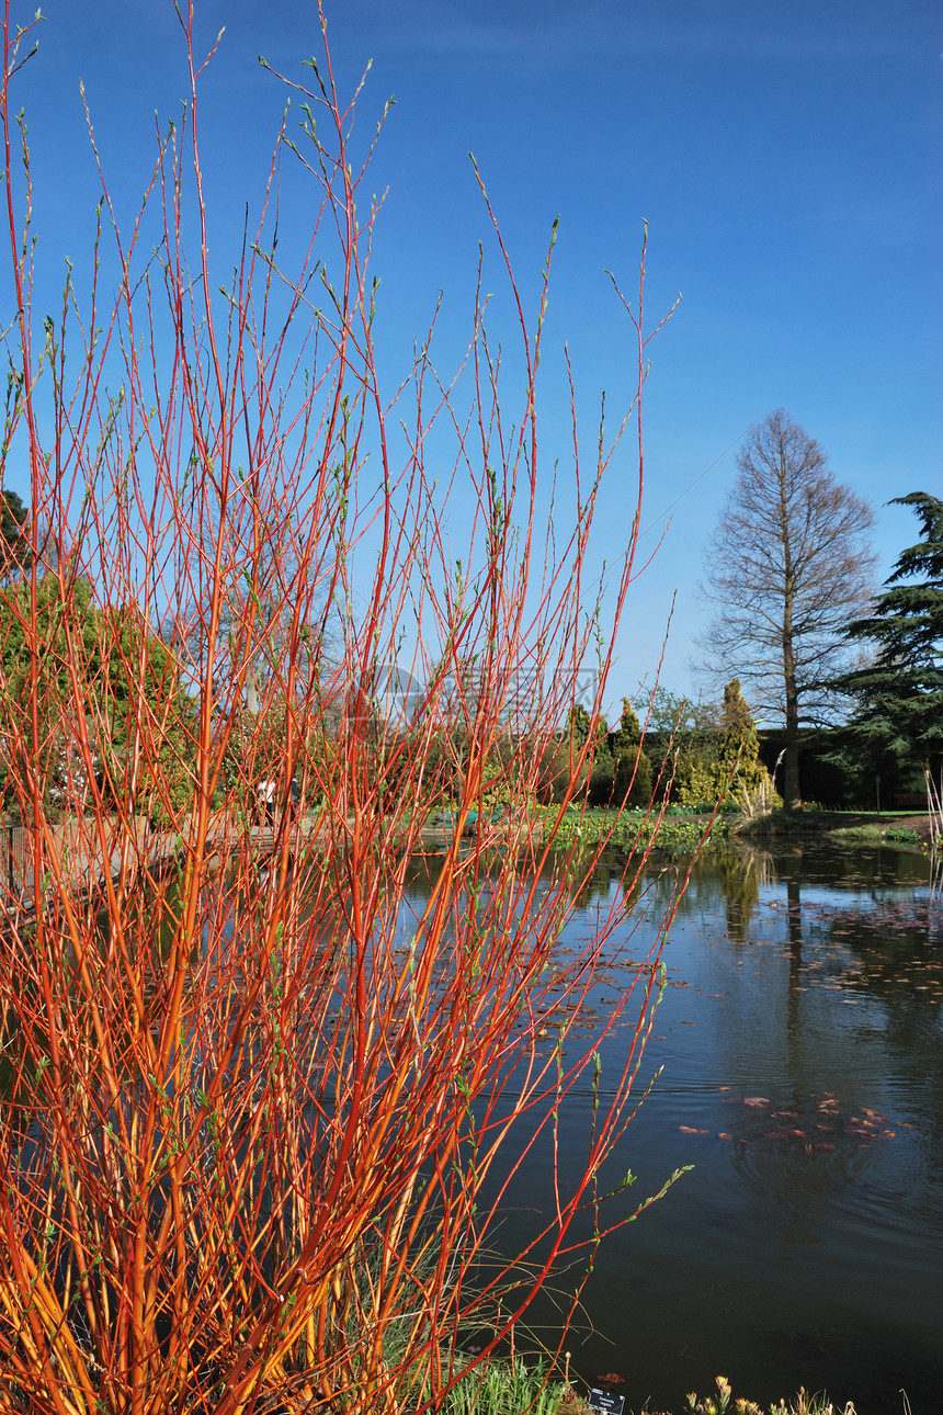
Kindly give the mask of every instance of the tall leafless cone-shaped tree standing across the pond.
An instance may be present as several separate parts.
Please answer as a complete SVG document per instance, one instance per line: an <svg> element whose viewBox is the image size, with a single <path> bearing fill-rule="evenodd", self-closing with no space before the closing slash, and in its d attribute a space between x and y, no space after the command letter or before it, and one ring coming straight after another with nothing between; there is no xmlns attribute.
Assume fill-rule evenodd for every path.
<svg viewBox="0 0 943 1415"><path fill-rule="evenodd" d="M711 674L751 686L756 715L786 729L783 801L800 805L799 732L830 722L831 681L847 665L841 630L872 591L874 514L826 467L783 409L751 429L707 546L704 597L718 613L701 638Z"/></svg>

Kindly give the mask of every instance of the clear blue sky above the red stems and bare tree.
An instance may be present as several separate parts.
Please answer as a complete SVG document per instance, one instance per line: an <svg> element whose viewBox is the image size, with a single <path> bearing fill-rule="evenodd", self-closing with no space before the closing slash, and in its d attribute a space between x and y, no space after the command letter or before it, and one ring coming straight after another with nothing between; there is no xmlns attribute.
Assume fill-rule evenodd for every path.
<svg viewBox="0 0 943 1415"><path fill-rule="evenodd" d="M660 531L664 542L633 590L614 702L655 669L674 591L663 681L691 686L691 638L707 614L696 599L703 545L735 471L734 450L721 454L775 408L817 437L836 475L878 508L884 579L915 525L884 502L943 487L939 3L327 0L325 8L341 86L373 59L365 132L396 96L375 168L376 188L389 188L376 269L390 374L440 289L444 366L468 330L478 242L489 238L469 150L529 294L561 218L547 361L560 364L568 344L588 443L601 391L611 408L631 392L632 331L605 270L635 286L643 219L650 316L683 294L649 351L643 526L655 529L643 543L653 548ZM96 198L79 76L130 215L154 150L154 112L178 110L187 75L170 0L49 0L44 14L21 98L37 225L52 259L85 245ZM317 11L295 0L204 0L197 16L208 44L226 27L204 100L213 231L225 249L259 195L284 102L257 55L300 75L317 48ZM300 238L304 211L297 222ZM493 259L489 276L498 289ZM568 454L554 379L541 403L547 466ZM631 471L626 449L616 491ZM625 519L618 507L607 515L597 559L619 555L625 508Z"/></svg>

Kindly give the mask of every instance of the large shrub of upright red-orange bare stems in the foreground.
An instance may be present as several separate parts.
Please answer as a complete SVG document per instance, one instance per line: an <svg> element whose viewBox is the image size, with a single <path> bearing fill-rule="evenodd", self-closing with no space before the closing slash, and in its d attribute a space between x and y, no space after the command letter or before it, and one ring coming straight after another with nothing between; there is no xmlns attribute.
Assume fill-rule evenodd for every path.
<svg viewBox="0 0 943 1415"><path fill-rule="evenodd" d="M433 1411L469 1364L464 1323L489 1320L485 1361L605 1231L599 1172L635 1104L662 934L614 1013L631 1009L633 1044L587 1115L578 1183L482 1268L520 1155L547 1138L557 1155L558 1108L595 1074L571 1029L543 1054L541 1007L578 1019L628 904L564 958L604 842L537 882L592 750L590 733L567 760L554 733L588 665L598 716L638 507L619 505L602 616L590 535L621 430L587 468L574 417L549 516L550 256L532 317L496 224L516 365L479 279L462 378L438 374L430 333L406 385L380 386L372 142L327 34L219 287L198 140L212 55L180 13L185 120L130 226L102 170L89 282L40 325L14 116L31 27L6 8L3 475L28 471L31 495L0 589L0 766L28 843L24 877L0 882L0 1411ZM311 202L291 273L288 163ZM640 859L626 869L628 899Z"/></svg>

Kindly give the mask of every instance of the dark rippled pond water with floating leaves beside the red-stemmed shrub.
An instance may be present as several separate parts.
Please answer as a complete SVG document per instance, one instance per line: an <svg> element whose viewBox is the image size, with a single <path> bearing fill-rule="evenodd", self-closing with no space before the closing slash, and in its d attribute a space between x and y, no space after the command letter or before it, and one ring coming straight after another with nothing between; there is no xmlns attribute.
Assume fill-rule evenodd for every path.
<svg viewBox="0 0 943 1415"><path fill-rule="evenodd" d="M571 941L618 889L602 870ZM694 1169L602 1245L575 1368L633 1409L680 1409L724 1373L765 1402L802 1382L858 1415L903 1409L902 1390L915 1415L943 1411L943 900L927 862L707 855L664 962L640 1080L663 1070L615 1166L638 1176L625 1210ZM618 981L592 999L602 1013ZM621 1037L602 1044L604 1087ZM574 1148L587 1107L563 1116ZM536 1157L515 1240L550 1208Z"/></svg>

